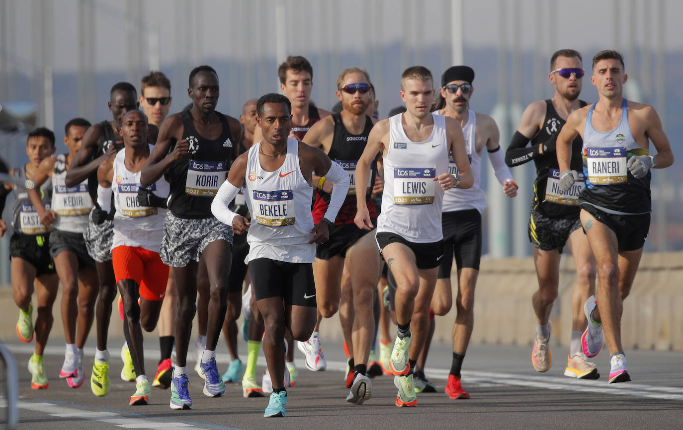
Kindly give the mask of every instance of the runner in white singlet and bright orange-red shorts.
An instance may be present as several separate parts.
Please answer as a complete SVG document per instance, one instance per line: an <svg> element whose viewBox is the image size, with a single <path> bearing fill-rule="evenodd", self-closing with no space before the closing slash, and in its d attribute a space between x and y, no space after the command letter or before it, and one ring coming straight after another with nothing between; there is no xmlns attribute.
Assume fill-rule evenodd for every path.
<svg viewBox="0 0 683 430"><path fill-rule="evenodd" d="M157 207L166 207L169 184L163 178L148 189L139 184L140 171L152 148L147 141L145 114L129 111L124 115L122 124L117 131L124 139L124 149L98 168L98 203L101 209L94 209L96 214L93 218L96 223L104 220L107 212L111 211L113 195L116 212L111 253L126 313L124 334L133 350L131 356L137 375L135 394L130 397L129 404L148 405L152 388L145 373L141 329L151 332L156 327L166 291L168 266L161 262L158 253L165 210L159 211ZM96 395L106 395L109 377L96 379L100 375L97 370L98 363L95 362L92 380L103 394L93 391Z"/></svg>

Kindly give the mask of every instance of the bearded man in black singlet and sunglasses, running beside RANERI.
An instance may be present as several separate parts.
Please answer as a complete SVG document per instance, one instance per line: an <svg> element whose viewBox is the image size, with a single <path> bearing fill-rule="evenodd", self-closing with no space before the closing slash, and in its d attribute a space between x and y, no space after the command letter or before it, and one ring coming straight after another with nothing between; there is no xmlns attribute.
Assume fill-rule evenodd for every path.
<svg viewBox="0 0 683 430"><path fill-rule="evenodd" d="M583 302L595 291L595 260L579 220L579 185L572 192L558 188L559 167L555 156L555 139L567 117L585 102L579 100L583 84L581 54L562 49L550 57L548 79L555 86L553 98L533 102L522 114L522 123L505 153L510 167L533 160L536 180L529 217L529 242L533 252L538 291L531 304L536 315L536 334L531 350L531 364L538 372L550 370L550 311L559 289L559 263L565 244L574 257L576 287L572 294L572 336L564 374L581 379L600 377L596 365L581 352L581 333L586 327ZM531 147L527 144L531 140ZM572 169L582 171L580 137L572 143Z"/></svg>

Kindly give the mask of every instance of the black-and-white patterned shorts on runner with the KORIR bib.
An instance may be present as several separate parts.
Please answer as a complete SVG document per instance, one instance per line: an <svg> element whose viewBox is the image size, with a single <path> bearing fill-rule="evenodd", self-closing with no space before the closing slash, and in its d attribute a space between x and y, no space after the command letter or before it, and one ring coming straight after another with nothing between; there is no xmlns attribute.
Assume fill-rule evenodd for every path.
<svg viewBox="0 0 683 430"><path fill-rule="evenodd" d="M173 268L184 268L191 259L199 261L201 251L211 242L223 239L232 244L233 235L232 227L216 218L178 218L169 211L164 219L161 261Z"/></svg>

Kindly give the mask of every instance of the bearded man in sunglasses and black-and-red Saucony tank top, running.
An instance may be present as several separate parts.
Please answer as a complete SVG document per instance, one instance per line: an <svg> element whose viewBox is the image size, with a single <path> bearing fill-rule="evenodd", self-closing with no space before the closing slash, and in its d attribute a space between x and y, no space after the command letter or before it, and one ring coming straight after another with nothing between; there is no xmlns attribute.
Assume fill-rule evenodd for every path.
<svg viewBox="0 0 683 430"><path fill-rule="evenodd" d="M366 373L375 331L373 296L376 295L376 285L380 277L380 255L374 243L374 234L367 234L370 231L359 229L354 223L357 194L364 196L373 224L377 218L375 202L371 197L374 165L372 177L368 181L358 184L354 180L356 164L363 154L367 136L375 122L365 114L367 105L370 104L370 91L370 76L365 70L357 67L342 70L337 77L337 98L344 109L341 113L325 117L314 124L303 139L308 145L322 149L350 177L348 194L335 219L335 225L330 230L330 238L318 245L316 250L313 274L316 278L318 310L323 317L329 318L339 309L342 272L346 262L352 298L352 306L348 306L349 315L342 318L350 369L346 388L351 389L346 401L358 404L372 396L372 384ZM313 179L318 180L316 202L313 204L313 223L319 223L327 210L334 188L332 184L327 184L324 176ZM314 359L320 344L315 333L309 341L298 343L298 347L306 354L306 366L311 370L318 370L318 363Z"/></svg>

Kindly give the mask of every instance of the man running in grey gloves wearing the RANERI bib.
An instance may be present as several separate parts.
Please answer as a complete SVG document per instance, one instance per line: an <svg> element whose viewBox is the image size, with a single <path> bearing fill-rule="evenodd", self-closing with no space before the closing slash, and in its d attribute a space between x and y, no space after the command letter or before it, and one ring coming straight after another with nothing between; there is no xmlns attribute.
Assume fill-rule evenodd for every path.
<svg viewBox="0 0 683 430"><path fill-rule="evenodd" d="M589 298L581 341L594 357L602 347L602 328L610 354L610 384L630 381L622 346L623 301L636 276L650 229L650 169L673 164L673 152L652 106L628 101L624 58L617 51L593 57L591 83L598 102L574 111L557 137L559 186L567 191L579 180L570 160L572 140L583 139L585 188L579 195L581 224L598 265L597 302ZM649 154L650 141L657 154Z"/></svg>

